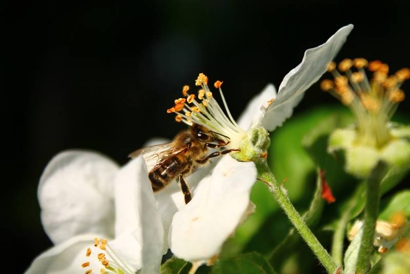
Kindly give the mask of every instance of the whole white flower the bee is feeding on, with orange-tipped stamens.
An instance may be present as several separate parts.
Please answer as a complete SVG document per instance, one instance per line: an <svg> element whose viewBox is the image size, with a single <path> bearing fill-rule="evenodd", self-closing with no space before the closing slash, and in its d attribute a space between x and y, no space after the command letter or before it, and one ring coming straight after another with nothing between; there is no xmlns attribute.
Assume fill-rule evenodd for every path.
<svg viewBox="0 0 410 274"><path fill-rule="evenodd" d="M326 43L306 50L302 62L284 77L278 94L272 84L268 85L249 103L238 123L232 118L224 100L220 89L222 82L217 81L214 86L220 91L228 115L224 114L213 98L208 87L208 77L202 73L196 80L196 85L201 87L197 96L200 101L195 99L194 94L188 94L189 87L185 86L183 95L187 96L187 99L175 100L175 106L168 112L176 113L177 121L188 125L196 123L228 136L228 148L239 147L240 153L247 154L245 142L249 142L263 152L269 145L266 130L274 130L289 118L303 92L327 70L327 65L352 29L352 25L345 26ZM168 242L176 257L193 262L194 267L203 263L212 264L224 241L252 211L249 196L257 176L255 165L252 162L237 162L231 158L232 156L237 160L252 161L255 156L266 156L258 151L256 154L252 153L241 155L242 158L238 157L239 153L236 152L223 156L211 175L206 178L203 178L203 175L210 173L208 170L204 171L206 168L187 177L186 181L191 189L194 189L193 199L187 205L183 202L183 195L176 184L171 184L156 194L165 236L172 218ZM212 167L213 165L210 168Z"/></svg>

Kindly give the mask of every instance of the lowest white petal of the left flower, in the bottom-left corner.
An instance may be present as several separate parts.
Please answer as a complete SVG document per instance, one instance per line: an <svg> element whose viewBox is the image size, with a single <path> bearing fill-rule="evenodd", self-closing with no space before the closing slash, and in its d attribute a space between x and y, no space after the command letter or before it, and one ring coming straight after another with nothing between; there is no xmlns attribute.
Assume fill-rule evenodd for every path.
<svg viewBox="0 0 410 274"><path fill-rule="evenodd" d="M87 248L94 247L94 234L83 234L64 241L51 249L43 252L31 263L26 270L26 274L71 274L84 273L89 267L83 268L81 264L90 262L97 273L102 265L96 258L97 254L92 252L90 257L86 257Z"/></svg>

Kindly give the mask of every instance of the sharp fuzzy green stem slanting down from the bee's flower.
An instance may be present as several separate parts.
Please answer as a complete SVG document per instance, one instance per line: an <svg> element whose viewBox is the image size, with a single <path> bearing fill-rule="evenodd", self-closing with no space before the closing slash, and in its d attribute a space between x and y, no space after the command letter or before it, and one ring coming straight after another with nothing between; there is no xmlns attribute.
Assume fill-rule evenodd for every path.
<svg viewBox="0 0 410 274"><path fill-rule="evenodd" d="M255 164L256 168L258 169L259 178L261 179L261 181L269 185L269 190L273 194L273 197L285 211L289 220L298 230L300 236L309 245L313 253L319 259L320 263L326 268L327 272L335 272L338 268L337 264L332 260L332 257L329 255L329 253L327 253L326 249L324 249L323 246L319 243L309 227L303 222L302 217L300 217L298 211L296 211L295 207L289 200L286 190L283 189L276 181L267 162L261 159L259 161L256 161Z"/></svg>

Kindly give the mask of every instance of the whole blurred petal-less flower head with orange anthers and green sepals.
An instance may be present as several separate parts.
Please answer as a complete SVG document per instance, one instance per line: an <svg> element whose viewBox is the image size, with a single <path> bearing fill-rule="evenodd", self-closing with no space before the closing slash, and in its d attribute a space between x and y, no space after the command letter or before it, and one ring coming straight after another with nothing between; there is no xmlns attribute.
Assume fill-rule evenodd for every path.
<svg viewBox="0 0 410 274"><path fill-rule="evenodd" d="M373 72L370 81L366 67ZM388 75L387 64L356 58L343 60L338 70L335 63L330 63L329 71L335 79L322 81L322 89L348 106L357 118L356 125L332 133L329 152L344 150L346 171L359 178L367 177L379 161L397 170L408 169L410 127L389 120L398 103L404 100L400 86L410 77L410 69Z"/></svg>

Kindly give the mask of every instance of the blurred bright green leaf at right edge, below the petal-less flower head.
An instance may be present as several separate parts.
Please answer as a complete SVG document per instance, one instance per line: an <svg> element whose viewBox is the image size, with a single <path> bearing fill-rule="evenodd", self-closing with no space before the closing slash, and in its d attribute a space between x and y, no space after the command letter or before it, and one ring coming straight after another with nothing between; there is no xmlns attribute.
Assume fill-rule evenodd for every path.
<svg viewBox="0 0 410 274"><path fill-rule="evenodd" d="M410 217L410 189L402 190L392 197L383 199L380 208L379 219L381 220L389 221L391 216L398 211L403 211L407 218Z"/></svg>

